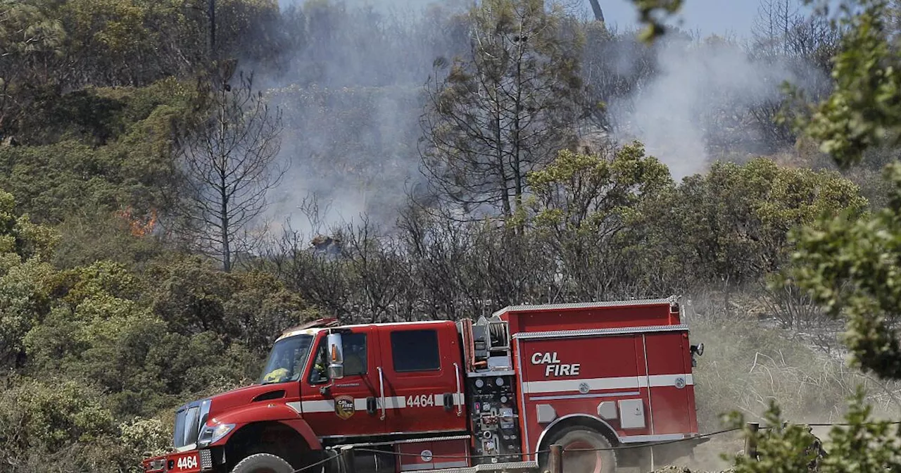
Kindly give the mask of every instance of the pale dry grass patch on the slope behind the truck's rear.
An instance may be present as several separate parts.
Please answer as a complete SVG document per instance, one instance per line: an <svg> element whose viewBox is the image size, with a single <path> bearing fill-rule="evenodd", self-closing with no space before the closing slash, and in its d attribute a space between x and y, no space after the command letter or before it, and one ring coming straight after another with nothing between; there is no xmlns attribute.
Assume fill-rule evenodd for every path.
<svg viewBox="0 0 901 473"><path fill-rule="evenodd" d="M897 384L866 376L793 332L763 326L752 297L731 296L729 310L723 300L696 299L687 314L692 342L705 344L695 368L702 432L722 428L721 415L731 411L762 422L770 401L792 423L841 422L846 400L858 385L867 390L877 415L894 414L901 406Z"/></svg>

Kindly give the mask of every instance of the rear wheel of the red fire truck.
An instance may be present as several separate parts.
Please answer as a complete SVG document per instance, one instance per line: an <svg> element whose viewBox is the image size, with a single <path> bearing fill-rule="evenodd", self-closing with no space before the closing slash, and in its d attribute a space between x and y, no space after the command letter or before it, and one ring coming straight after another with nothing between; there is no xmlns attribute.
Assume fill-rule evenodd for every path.
<svg viewBox="0 0 901 473"><path fill-rule="evenodd" d="M610 449L611 444L607 438L587 427L575 426L557 432L548 445L553 444L563 447L563 471L565 473L614 473L616 471L616 454ZM571 449L567 451L568 449ZM582 451L578 451L582 450ZM549 469L545 456L542 471Z"/></svg>

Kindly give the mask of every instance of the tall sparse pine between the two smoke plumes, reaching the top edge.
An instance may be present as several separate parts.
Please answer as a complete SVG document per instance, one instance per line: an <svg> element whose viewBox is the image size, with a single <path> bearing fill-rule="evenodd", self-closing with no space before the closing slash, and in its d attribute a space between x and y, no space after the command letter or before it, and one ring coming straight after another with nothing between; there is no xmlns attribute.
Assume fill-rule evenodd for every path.
<svg viewBox="0 0 901 473"><path fill-rule="evenodd" d="M574 141L582 39L542 0L485 0L465 59L435 61L423 114L424 174L463 212L509 216L526 174Z"/></svg>

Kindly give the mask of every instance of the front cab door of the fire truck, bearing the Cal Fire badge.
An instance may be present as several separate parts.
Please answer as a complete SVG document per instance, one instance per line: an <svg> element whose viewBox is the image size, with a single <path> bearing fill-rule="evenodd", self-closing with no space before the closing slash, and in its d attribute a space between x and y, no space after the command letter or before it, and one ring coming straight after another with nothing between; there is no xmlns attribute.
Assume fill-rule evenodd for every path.
<svg viewBox="0 0 901 473"><path fill-rule="evenodd" d="M386 432L378 414L378 331L354 327L341 337L344 377L328 377L326 332L319 332L314 361L301 380L303 416L318 437L371 435Z"/></svg>

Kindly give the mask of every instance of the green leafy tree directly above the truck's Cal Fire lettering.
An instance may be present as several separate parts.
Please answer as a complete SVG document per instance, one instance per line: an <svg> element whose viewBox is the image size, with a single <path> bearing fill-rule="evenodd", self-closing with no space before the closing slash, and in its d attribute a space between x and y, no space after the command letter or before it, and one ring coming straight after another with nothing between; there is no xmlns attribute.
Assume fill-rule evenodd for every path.
<svg viewBox="0 0 901 473"><path fill-rule="evenodd" d="M646 288L634 286L638 261L628 248L641 231L633 228L641 226L644 205L671 192L674 183L641 143L605 154L560 151L528 182L531 226L558 258L566 297L604 300Z"/></svg>

